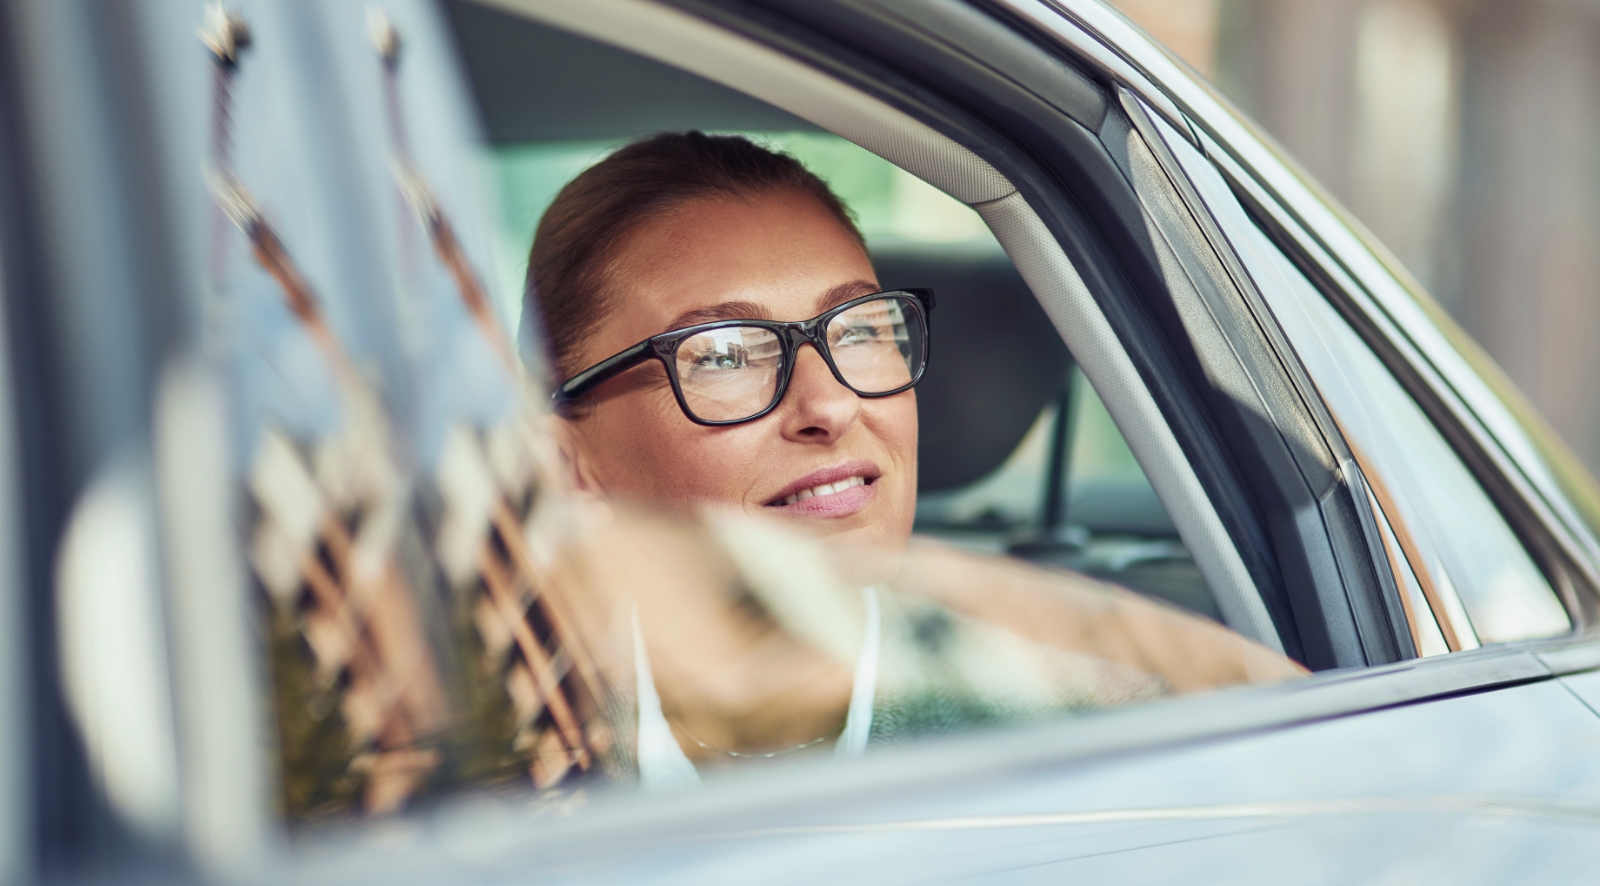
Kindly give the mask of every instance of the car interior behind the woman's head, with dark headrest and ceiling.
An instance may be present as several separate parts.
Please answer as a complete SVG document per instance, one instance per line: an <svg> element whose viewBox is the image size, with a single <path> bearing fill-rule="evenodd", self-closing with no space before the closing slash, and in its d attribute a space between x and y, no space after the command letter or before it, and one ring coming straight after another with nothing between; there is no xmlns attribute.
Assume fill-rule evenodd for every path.
<svg viewBox="0 0 1600 886"><path fill-rule="evenodd" d="M501 291L522 291L533 227L558 189L634 138L702 130L787 150L858 214L885 288L938 293L933 360L917 389L917 531L1222 621L1139 461L978 213L709 78L514 13L446 10L491 147ZM520 315L520 304L507 307Z"/></svg>

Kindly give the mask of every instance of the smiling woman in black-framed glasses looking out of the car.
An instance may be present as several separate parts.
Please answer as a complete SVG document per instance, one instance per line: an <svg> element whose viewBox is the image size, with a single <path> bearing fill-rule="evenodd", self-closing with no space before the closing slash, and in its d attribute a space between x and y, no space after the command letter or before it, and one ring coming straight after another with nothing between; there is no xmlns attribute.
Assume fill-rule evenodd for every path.
<svg viewBox="0 0 1600 886"><path fill-rule="evenodd" d="M528 280L579 491L683 517L717 505L878 553L851 573L866 592L832 597L792 590L813 560L792 544L741 558L766 544L744 529L730 549L739 574L723 581L698 566L712 553L686 553L704 539L595 557L590 579L632 593L611 601L630 609L646 785L691 782L696 764L851 755L869 736L1299 673L1090 579L944 550L901 558L933 294L880 293L848 210L794 158L701 133L630 144L555 198Z"/></svg>

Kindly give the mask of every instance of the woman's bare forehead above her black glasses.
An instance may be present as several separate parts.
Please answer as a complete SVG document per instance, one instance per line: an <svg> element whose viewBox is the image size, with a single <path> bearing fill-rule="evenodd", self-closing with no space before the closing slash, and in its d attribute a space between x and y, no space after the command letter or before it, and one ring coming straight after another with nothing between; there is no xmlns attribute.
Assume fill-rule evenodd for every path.
<svg viewBox="0 0 1600 886"><path fill-rule="evenodd" d="M624 240L608 277L614 301L602 331L618 349L726 302L805 320L838 286L875 281L854 235L792 189L688 202Z"/></svg>

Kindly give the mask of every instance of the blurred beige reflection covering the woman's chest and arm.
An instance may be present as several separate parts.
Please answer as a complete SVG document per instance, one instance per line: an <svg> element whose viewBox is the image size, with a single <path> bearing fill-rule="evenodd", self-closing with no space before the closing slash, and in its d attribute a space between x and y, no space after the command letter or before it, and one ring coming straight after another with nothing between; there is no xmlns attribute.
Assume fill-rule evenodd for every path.
<svg viewBox="0 0 1600 886"><path fill-rule="evenodd" d="M1133 592L936 542L883 558L744 517L611 513L558 560L549 587L646 788L1304 673Z"/></svg>

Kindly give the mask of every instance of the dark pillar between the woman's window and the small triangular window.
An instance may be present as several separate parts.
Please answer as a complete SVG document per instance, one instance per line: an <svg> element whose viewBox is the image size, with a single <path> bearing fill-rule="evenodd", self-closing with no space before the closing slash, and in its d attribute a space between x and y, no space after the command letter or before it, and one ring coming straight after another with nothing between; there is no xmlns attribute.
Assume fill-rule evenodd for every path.
<svg viewBox="0 0 1600 886"><path fill-rule="evenodd" d="M1314 668L1414 654L1360 472L1251 291L1205 267L1226 256L1150 162L1130 114L1142 96L1010 13L957 2L674 5L920 115L1006 174L1134 358L1285 648Z"/></svg>

